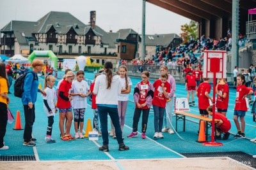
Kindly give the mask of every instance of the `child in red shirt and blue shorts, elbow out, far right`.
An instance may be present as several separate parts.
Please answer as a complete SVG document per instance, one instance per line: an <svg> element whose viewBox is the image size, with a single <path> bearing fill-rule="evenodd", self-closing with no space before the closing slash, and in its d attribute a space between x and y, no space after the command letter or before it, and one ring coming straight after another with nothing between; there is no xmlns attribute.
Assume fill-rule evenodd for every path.
<svg viewBox="0 0 256 170"><path fill-rule="evenodd" d="M243 74L237 75L237 87L236 87L236 105L234 110L234 122L237 128L237 134L234 138L245 138L244 129L245 121L244 116L247 111L245 97L253 94L253 90L248 89L245 84L245 77ZM241 127L238 122L238 117L240 117Z"/></svg>

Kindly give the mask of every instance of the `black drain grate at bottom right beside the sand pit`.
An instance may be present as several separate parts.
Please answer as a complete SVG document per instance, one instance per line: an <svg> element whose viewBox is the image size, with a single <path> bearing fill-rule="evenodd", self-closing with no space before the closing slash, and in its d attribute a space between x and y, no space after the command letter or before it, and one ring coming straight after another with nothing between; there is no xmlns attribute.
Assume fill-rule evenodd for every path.
<svg viewBox="0 0 256 170"><path fill-rule="evenodd" d="M237 162L230 162L230 164L244 164L256 168L256 159L252 155L244 152L206 152L206 153L180 153L188 158L193 157L230 157Z"/></svg>

